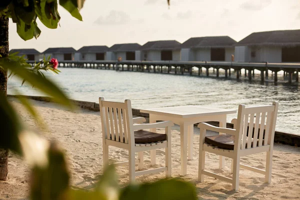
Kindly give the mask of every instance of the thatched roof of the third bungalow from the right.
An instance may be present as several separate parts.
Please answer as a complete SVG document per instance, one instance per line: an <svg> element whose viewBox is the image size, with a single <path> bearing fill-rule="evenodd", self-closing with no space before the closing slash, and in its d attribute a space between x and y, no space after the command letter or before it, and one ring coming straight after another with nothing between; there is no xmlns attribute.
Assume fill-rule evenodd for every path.
<svg viewBox="0 0 300 200"><path fill-rule="evenodd" d="M180 42L176 40L159 40L159 41L148 41L142 45L140 50L174 50L180 49Z"/></svg>

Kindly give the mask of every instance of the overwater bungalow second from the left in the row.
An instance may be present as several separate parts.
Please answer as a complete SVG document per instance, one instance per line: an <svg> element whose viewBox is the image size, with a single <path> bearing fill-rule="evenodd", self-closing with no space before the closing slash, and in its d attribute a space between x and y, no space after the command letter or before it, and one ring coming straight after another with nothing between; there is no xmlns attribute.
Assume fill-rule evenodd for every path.
<svg viewBox="0 0 300 200"><path fill-rule="evenodd" d="M47 48L43 51L44 56L56 58L58 61L74 60L76 50L73 47Z"/></svg>

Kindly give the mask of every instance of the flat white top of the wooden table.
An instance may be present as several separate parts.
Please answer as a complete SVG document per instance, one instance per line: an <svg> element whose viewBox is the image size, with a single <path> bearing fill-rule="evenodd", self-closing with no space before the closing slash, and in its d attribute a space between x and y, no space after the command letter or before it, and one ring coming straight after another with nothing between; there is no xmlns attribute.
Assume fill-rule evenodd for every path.
<svg viewBox="0 0 300 200"><path fill-rule="evenodd" d="M140 109L140 112L165 115L165 116L173 116L179 118L189 118L189 117L200 117L200 116L210 116L210 115L220 115L220 114L234 114L236 113L236 110L207 107L207 106L200 106L200 105L184 105L184 106Z"/></svg>

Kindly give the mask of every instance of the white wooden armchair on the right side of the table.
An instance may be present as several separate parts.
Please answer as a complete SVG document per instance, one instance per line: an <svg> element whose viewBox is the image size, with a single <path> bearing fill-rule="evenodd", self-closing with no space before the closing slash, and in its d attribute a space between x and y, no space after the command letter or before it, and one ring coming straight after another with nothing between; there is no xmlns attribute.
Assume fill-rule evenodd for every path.
<svg viewBox="0 0 300 200"><path fill-rule="evenodd" d="M245 107L245 105L240 104L238 106L237 119L232 119L231 121L234 124L233 129L220 128L220 127L209 125L207 123L199 123L198 127L200 128L200 142L199 142L198 180L202 182L204 180L204 175L212 176L214 178L218 178L223 181L232 183L232 189L237 190L239 167L241 167L247 170L264 174L265 182L270 183L277 110L278 110L277 101L274 101L272 105L257 106L257 107ZM227 141L228 143L224 141L223 143L220 143L220 141L218 141L216 143L220 145L217 145L216 143L212 145L211 144L212 142L209 140L209 137L205 137L206 130L216 131L219 132L220 134L222 133L227 134L227 135L217 136L219 138L220 136L228 136L228 137L230 135L234 136L234 139L232 141L232 146L231 146L232 148L230 149L230 147L228 147L228 145L230 145L229 140ZM223 147L224 143L226 143L227 145L226 148ZM232 158L232 163L231 163L231 172L233 173L232 178L218 175L216 173L205 170L204 169L205 151ZM264 152L264 151L266 151L265 170L239 163L239 159L241 156Z"/></svg>

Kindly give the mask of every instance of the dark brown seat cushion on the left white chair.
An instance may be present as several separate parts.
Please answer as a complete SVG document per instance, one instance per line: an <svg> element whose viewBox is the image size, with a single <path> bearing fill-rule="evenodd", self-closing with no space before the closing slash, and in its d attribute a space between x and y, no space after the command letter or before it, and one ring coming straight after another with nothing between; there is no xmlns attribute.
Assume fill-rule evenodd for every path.
<svg viewBox="0 0 300 200"><path fill-rule="evenodd" d="M150 143L156 141L166 140L166 134L160 134L156 132L150 132L147 130L134 131L135 143Z"/></svg>

